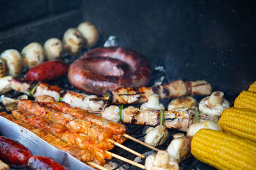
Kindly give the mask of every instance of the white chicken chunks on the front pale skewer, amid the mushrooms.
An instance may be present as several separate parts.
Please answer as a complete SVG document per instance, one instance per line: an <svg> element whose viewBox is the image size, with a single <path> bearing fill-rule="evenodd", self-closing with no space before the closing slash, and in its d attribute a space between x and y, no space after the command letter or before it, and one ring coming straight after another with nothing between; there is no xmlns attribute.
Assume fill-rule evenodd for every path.
<svg viewBox="0 0 256 170"><path fill-rule="evenodd" d="M193 123L193 117L198 111L196 108L175 108L172 111L164 111L163 125L170 129L179 129L180 131L188 131L188 127ZM161 110L139 110L129 106L122 110L120 118L118 106L109 106L102 113L102 117L113 121L121 120L125 124L151 125L157 126L161 124Z"/></svg>

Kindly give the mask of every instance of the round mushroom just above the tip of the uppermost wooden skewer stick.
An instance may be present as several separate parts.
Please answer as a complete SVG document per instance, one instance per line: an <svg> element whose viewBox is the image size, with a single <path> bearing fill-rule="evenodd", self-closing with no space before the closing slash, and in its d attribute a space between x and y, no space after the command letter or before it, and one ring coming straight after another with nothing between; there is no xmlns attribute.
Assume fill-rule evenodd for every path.
<svg viewBox="0 0 256 170"><path fill-rule="evenodd" d="M162 145L167 138L168 130L166 127L164 125L157 125L157 127L147 133L144 142L148 145L159 146Z"/></svg>

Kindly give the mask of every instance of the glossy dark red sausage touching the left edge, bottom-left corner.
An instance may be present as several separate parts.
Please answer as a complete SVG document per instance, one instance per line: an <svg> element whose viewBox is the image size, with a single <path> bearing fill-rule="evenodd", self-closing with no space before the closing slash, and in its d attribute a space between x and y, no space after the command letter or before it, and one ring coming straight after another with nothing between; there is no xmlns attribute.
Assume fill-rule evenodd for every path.
<svg viewBox="0 0 256 170"><path fill-rule="evenodd" d="M25 167L31 151L18 141L0 136L0 159L12 167Z"/></svg>

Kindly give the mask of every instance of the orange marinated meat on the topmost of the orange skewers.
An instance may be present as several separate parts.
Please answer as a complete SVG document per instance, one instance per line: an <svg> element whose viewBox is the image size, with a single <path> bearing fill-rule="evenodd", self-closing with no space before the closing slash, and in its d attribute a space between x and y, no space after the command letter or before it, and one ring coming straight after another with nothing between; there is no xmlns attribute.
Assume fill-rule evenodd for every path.
<svg viewBox="0 0 256 170"><path fill-rule="evenodd" d="M118 135L125 134L125 132L127 132L127 127L125 125L109 121L106 118L102 118L98 115L90 114L88 111L82 110L81 108L72 108L67 103L56 102L50 96L38 96L36 97L35 101L37 103L43 104L44 106L47 106L48 108L52 108L63 113L68 113L72 115L72 117L87 120L94 125L98 125L104 129L109 129L110 131L113 131L113 134Z"/></svg>

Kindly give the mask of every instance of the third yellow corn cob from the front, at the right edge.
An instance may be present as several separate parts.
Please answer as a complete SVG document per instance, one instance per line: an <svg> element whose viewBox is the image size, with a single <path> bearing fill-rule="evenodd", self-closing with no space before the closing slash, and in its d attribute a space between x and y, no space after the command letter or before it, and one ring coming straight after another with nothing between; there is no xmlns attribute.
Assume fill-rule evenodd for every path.
<svg viewBox="0 0 256 170"><path fill-rule="evenodd" d="M234 106L236 108L245 108L256 111L256 92L243 90L243 92L236 97Z"/></svg>

